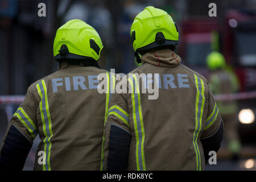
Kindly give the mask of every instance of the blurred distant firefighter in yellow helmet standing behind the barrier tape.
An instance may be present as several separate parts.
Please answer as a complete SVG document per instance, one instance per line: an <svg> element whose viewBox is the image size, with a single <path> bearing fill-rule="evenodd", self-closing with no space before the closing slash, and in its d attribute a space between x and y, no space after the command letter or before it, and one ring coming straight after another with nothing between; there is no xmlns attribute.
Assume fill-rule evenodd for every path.
<svg viewBox="0 0 256 182"><path fill-rule="evenodd" d="M207 56L207 66L210 70L209 86L214 94L232 94L238 92L240 84L232 71L225 70L225 57L219 52L211 52ZM237 131L236 101L217 101L221 117L225 123L225 140L232 159L237 159L241 151L241 142Z"/></svg>

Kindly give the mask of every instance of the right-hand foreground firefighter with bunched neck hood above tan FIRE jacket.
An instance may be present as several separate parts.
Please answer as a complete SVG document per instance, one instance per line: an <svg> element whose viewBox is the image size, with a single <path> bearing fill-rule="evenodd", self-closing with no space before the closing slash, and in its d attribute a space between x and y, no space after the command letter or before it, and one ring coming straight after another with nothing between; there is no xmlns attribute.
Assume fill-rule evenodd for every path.
<svg viewBox="0 0 256 182"><path fill-rule="evenodd" d="M134 19L131 40L142 65L121 80L131 91L110 101L104 169L203 170L224 132L208 81L180 64L179 32L166 11L146 7ZM143 92L150 85L158 98Z"/></svg>

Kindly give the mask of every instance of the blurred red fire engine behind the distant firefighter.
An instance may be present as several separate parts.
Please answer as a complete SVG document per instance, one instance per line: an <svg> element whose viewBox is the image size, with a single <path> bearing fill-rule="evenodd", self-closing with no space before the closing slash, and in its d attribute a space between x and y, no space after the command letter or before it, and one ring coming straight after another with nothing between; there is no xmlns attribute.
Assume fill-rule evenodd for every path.
<svg viewBox="0 0 256 182"><path fill-rule="evenodd" d="M241 82L238 100L240 110L256 114L256 11L230 10L224 19L195 18L181 22L179 55L183 64L208 77L205 58L211 51L220 51ZM230 67L231 68L231 67ZM225 98L225 97L224 97ZM255 144L256 122L240 123L243 143Z"/></svg>

